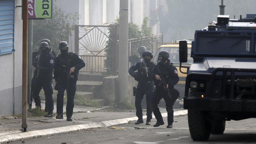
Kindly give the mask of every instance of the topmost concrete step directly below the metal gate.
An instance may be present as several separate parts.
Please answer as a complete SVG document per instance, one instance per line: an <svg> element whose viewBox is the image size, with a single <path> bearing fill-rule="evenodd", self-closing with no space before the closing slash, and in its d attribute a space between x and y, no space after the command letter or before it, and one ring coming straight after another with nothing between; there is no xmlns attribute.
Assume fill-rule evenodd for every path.
<svg viewBox="0 0 256 144"><path fill-rule="evenodd" d="M110 75L88 74L79 72L78 80L80 81L103 81L103 78Z"/></svg>

